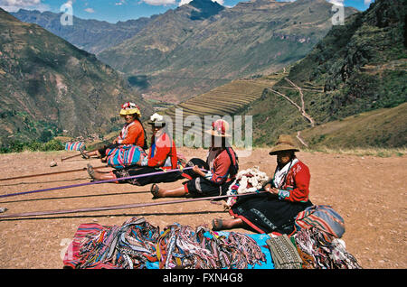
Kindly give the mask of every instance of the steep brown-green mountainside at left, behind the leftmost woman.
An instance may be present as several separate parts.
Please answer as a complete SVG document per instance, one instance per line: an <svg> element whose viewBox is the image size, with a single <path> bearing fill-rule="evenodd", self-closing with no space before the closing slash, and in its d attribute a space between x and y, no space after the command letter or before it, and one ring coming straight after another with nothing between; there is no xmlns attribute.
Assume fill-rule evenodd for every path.
<svg viewBox="0 0 407 287"><path fill-rule="evenodd" d="M118 129L120 106L152 108L117 71L0 9L0 144Z"/></svg>

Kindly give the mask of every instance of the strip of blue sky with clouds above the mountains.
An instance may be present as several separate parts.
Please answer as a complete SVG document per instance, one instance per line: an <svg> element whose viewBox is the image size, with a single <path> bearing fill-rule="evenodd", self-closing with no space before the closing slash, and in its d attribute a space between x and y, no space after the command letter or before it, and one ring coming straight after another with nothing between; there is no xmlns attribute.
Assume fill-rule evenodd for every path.
<svg viewBox="0 0 407 287"><path fill-rule="evenodd" d="M73 15L83 19L97 19L116 23L142 16L165 13L178 5L188 3L190 0L0 0L0 7L7 11L18 11L19 8L27 10L52 11L59 13L61 6L68 3L72 6ZM216 0L221 5L233 6L239 0ZM293 1L293 0L278 0ZM294 0L295 1L295 0ZM374 0L327 0L329 2L343 3L364 11Z"/></svg>

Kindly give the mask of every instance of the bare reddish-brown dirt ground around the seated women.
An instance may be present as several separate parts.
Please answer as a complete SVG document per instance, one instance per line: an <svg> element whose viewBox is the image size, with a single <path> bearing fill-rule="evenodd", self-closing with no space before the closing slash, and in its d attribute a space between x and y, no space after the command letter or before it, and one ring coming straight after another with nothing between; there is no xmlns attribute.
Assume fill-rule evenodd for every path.
<svg viewBox="0 0 407 287"><path fill-rule="evenodd" d="M203 149L181 149L187 159L205 157ZM0 178L42 172L83 168L88 162L100 166L98 159L80 157L61 161L74 152L13 153L0 155ZM365 269L404 269L406 261L406 189L407 156L380 158L327 153L298 153L311 171L310 199L314 204L332 206L345 219L346 250ZM55 160L56 167L50 167ZM272 175L276 157L268 149L256 149L251 157L240 158L241 169L259 166ZM109 169L106 169L109 170ZM102 170L103 171L103 170ZM27 190L89 182L86 171L0 181L0 195ZM178 187L183 181L166 183ZM5 213L91 208L128 203L152 202L150 186L103 183L74 189L52 190L0 199ZM155 199L165 201L168 199ZM31 218L0 218L0 268L59 269L62 255L77 227L82 223L104 226L121 225L131 217L143 217L162 230L175 222L197 227L213 218L230 218L222 206L209 201L128 208L110 211L62 214ZM250 233L244 229L237 229Z"/></svg>

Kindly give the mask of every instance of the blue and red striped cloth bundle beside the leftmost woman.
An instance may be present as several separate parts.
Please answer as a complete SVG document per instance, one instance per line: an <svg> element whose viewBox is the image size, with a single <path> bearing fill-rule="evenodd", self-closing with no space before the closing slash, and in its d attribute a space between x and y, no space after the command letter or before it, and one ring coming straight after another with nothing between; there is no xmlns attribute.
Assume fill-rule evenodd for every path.
<svg viewBox="0 0 407 287"><path fill-rule="evenodd" d="M108 157L109 166L115 169L123 169L130 165L136 165L141 162L144 157L147 157L147 153L141 147L133 144L107 149L106 155Z"/></svg>

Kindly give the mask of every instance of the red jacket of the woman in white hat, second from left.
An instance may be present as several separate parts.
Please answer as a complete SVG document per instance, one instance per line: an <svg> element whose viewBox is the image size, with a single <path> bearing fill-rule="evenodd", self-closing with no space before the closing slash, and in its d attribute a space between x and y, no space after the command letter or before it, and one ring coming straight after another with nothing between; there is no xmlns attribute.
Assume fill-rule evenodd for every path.
<svg viewBox="0 0 407 287"><path fill-rule="evenodd" d="M166 133L161 134L156 139L153 135L147 165L161 167L165 170L174 170L177 168L177 161L174 140Z"/></svg>

